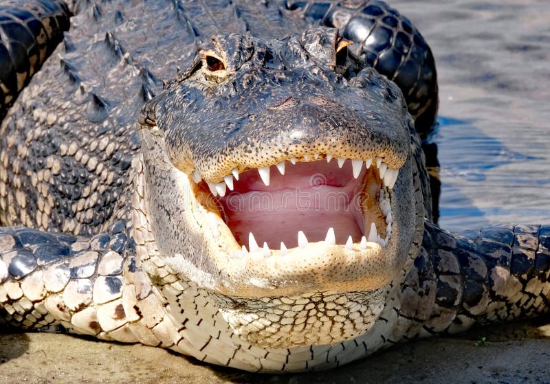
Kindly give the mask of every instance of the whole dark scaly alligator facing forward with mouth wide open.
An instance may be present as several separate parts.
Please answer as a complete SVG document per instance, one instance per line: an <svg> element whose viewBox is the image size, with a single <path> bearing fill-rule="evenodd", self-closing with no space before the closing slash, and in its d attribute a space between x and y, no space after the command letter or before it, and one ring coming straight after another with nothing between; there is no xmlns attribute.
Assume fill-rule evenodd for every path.
<svg viewBox="0 0 550 384"><path fill-rule="evenodd" d="M434 59L385 3L0 16L4 326L292 372L550 308L549 225L434 223Z"/></svg>

